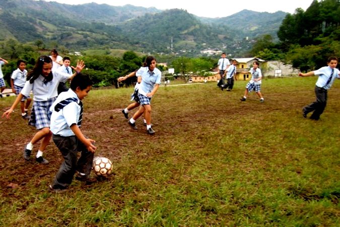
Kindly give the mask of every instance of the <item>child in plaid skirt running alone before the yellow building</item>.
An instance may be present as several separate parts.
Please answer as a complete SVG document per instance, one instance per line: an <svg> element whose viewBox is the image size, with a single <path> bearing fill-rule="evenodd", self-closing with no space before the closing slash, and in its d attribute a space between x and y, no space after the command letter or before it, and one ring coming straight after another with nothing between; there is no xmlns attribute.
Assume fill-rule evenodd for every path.
<svg viewBox="0 0 340 227"><path fill-rule="evenodd" d="M261 69L258 67L259 63L257 61L253 62L253 67L250 68L249 71L242 71L241 73L251 73L251 80L249 83L246 85L246 90L244 92L244 96L240 99L241 101L246 101L247 100L247 95L249 92L254 90L258 97L260 98L260 102L263 103L264 99L261 94L261 79L262 79L262 74L261 74Z"/></svg>

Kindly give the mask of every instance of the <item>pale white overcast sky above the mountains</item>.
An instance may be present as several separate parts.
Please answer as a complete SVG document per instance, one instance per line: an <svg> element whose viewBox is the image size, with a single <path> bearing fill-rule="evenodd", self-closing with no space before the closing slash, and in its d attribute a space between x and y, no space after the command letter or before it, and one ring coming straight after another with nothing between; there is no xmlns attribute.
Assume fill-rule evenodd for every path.
<svg viewBox="0 0 340 227"><path fill-rule="evenodd" d="M51 2L50 0L45 0ZM275 13L277 11L284 11L293 14L296 8L306 10L313 0L53 0L53 2L63 4L85 4L97 3L108 4L111 6L124 6L130 4L133 6L141 6L145 8L155 7L159 10L166 9L183 9L188 13L199 17L227 17L241 10L252 10L256 12Z"/></svg>

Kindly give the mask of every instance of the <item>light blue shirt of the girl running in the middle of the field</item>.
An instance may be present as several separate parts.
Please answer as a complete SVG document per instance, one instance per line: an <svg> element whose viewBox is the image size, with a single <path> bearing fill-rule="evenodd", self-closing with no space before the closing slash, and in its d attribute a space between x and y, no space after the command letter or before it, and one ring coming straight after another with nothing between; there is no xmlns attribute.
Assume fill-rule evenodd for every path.
<svg viewBox="0 0 340 227"><path fill-rule="evenodd" d="M146 95L147 93L152 92L155 84L161 84L162 73L158 68L150 71L149 67L141 67L136 72L136 75L137 77L142 77L142 82L138 89L139 93L141 93L142 95Z"/></svg>

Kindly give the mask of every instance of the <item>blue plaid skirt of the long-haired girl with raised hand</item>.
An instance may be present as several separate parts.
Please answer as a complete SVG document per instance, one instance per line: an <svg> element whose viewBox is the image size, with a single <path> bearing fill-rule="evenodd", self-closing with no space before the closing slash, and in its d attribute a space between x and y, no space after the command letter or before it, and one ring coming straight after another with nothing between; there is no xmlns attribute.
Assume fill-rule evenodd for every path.
<svg viewBox="0 0 340 227"><path fill-rule="evenodd" d="M51 98L47 101L34 101L32 105L31 118L29 125L35 126L36 129L49 128L50 118L52 112L49 108L57 97Z"/></svg>

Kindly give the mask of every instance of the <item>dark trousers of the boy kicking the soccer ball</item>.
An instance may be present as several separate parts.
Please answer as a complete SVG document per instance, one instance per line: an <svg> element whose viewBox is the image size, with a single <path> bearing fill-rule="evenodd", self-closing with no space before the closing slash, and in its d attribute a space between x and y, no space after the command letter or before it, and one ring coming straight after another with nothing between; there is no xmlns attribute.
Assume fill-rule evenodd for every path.
<svg viewBox="0 0 340 227"><path fill-rule="evenodd" d="M52 187L64 189L71 184L76 171L90 174L94 153L89 152L76 136L64 137L53 134L52 138L64 158L64 162L53 180ZM81 152L79 160L78 152Z"/></svg>

